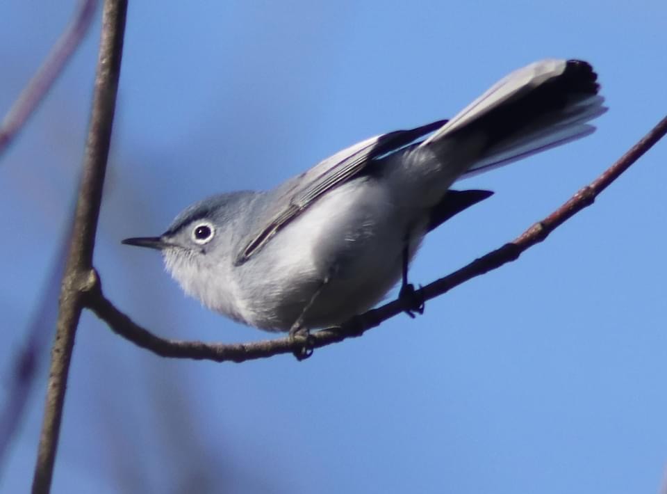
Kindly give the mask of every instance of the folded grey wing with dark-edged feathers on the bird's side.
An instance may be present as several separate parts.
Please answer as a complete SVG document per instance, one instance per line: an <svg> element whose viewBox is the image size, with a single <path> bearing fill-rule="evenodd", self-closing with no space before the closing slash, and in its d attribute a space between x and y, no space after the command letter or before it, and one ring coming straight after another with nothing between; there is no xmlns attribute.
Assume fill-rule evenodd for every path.
<svg viewBox="0 0 667 494"><path fill-rule="evenodd" d="M263 216L270 219L257 225L257 228L249 234L247 241L242 244L235 264L238 266L249 260L290 221L331 189L358 176L374 159L400 150L439 129L445 123L447 120L438 120L415 129L397 130L366 139L324 159L310 170L290 180L286 186L277 191L277 197L272 200L272 204L279 207L264 212Z"/></svg>

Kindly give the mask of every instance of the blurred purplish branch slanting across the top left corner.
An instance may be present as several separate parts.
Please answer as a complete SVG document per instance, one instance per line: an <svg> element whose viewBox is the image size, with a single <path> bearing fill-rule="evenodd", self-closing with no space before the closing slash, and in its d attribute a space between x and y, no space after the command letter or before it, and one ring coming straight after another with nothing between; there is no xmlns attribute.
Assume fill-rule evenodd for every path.
<svg viewBox="0 0 667 494"><path fill-rule="evenodd" d="M69 23L65 32L60 35L47 59L28 82L28 85L0 124L0 154L7 149L9 143L13 141L13 138L28 120L28 117L42 102L49 88L53 86L53 82L56 81L60 72L63 72L63 67L65 67L76 47L81 45L96 8L97 0L81 0L79 3L79 7L74 13L74 19Z"/></svg>

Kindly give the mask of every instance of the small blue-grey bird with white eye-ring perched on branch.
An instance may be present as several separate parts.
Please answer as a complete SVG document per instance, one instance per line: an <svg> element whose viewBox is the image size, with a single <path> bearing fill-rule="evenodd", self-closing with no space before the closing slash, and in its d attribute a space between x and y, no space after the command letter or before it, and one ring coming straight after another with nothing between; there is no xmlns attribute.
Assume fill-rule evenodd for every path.
<svg viewBox="0 0 667 494"><path fill-rule="evenodd" d="M583 61L543 60L448 122L376 136L270 191L197 202L160 237L167 270L208 308L265 330L334 326L402 278L425 234L491 193L461 177L591 134L607 109ZM431 134L428 136L428 134Z"/></svg>

